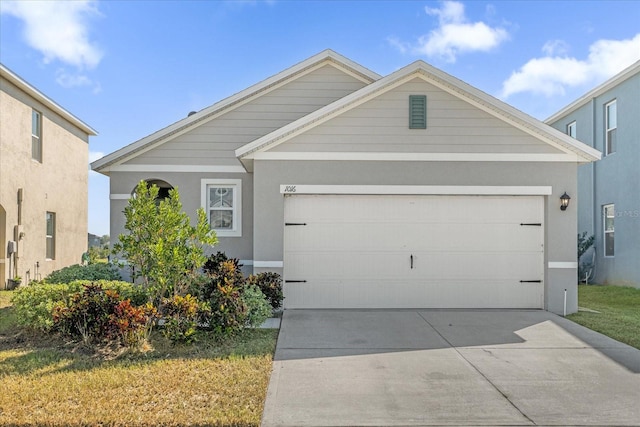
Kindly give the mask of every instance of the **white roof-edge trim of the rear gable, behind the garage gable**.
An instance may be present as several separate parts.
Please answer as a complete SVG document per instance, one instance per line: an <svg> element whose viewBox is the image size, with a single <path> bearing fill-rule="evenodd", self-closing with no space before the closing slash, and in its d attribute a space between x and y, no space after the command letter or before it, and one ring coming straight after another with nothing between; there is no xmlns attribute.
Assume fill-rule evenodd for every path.
<svg viewBox="0 0 640 427"><path fill-rule="evenodd" d="M303 76L327 64L332 64L341 68L351 76L359 79L363 83L372 83L380 78L380 76L371 70L345 58L344 56L332 51L325 50L317 55L312 56L284 71L279 72L253 86L248 87L234 95L231 95L195 114L179 120L157 132L152 133L126 147L121 148L107 156L91 163L91 168L101 172L105 166L113 163L124 163L131 158L142 154L152 148L166 142L169 138L175 138L183 133L191 130L196 124L204 124L213 120L222 114L226 114L234 108L246 104L262 96L272 90L275 90L292 79Z"/></svg>

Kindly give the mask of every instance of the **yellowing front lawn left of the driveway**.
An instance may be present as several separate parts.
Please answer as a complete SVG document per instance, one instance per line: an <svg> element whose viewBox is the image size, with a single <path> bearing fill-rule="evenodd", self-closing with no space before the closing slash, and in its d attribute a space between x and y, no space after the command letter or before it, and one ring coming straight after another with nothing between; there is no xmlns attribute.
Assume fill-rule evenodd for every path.
<svg viewBox="0 0 640 427"><path fill-rule="evenodd" d="M11 294L0 291L0 425L260 424L276 330L193 346L158 334L153 350L114 358L19 329Z"/></svg>

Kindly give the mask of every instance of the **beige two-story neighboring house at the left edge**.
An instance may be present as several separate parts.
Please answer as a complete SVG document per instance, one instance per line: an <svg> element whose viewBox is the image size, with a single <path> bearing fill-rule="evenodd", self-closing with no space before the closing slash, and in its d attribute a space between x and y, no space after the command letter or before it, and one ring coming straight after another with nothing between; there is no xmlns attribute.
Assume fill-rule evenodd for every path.
<svg viewBox="0 0 640 427"><path fill-rule="evenodd" d="M87 250L86 123L0 65L0 288Z"/></svg>

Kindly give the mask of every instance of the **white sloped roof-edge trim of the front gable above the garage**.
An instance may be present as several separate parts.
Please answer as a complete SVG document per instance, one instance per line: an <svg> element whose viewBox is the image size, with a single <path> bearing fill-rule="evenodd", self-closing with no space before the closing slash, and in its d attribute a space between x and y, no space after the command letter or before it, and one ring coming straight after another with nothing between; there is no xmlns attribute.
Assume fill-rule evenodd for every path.
<svg viewBox="0 0 640 427"><path fill-rule="evenodd" d="M392 91L415 78L422 79L454 97L479 108L489 115L508 123L510 126L533 136L537 140L559 149L561 152L569 155L565 161L572 159L573 161L589 162L600 158L600 153L597 150L570 138L423 61L416 61L296 122L290 123L281 129L240 147L236 150L236 156L243 161L246 167L251 168L252 159L256 156L268 157L266 152L272 150L279 144L297 135L301 135L384 93ZM534 157L535 156L531 156L531 159L534 159ZM373 158L375 158L375 156L373 156Z"/></svg>

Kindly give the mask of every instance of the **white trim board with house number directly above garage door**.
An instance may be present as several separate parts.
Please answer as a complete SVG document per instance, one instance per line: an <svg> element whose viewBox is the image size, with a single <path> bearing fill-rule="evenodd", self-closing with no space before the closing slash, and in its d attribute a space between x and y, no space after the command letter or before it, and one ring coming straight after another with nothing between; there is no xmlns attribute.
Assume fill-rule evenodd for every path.
<svg viewBox="0 0 640 427"><path fill-rule="evenodd" d="M280 194L549 196L550 186L473 185L298 185L280 186Z"/></svg>

